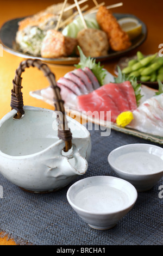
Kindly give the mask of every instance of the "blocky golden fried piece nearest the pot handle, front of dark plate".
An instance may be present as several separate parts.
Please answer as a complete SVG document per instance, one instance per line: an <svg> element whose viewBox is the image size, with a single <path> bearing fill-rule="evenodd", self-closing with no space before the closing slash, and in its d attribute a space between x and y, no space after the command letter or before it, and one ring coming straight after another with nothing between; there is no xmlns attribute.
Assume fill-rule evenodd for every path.
<svg viewBox="0 0 163 256"><path fill-rule="evenodd" d="M77 39L62 35L55 29L49 29L42 42L41 57L58 58L70 56L77 46Z"/></svg>

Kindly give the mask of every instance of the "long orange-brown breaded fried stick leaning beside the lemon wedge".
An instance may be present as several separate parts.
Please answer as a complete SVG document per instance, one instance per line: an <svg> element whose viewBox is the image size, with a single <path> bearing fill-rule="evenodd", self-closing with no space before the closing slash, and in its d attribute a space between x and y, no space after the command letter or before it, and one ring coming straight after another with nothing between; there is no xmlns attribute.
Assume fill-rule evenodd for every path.
<svg viewBox="0 0 163 256"><path fill-rule="evenodd" d="M96 19L102 31L108 36L109 45L112 50L122 51L131 46L128 34L122 30L117 19L105 6L99 7Z"/></svg>

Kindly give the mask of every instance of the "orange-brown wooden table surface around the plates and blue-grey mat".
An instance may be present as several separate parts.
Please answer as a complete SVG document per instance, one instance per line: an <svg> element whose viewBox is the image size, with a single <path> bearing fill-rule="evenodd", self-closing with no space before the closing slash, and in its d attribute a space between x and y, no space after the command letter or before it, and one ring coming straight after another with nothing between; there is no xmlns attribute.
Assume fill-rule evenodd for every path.
<svg viewBox="0 0 163 256"><path fill-rule="evenodd" d="M15 19L17 17L24 17L37 13L40 10L45 9L49 5L58 3L62 1L53 0L5 0L1 2L0 7L0 27L5 21ZM74 1L68 1L68 3L73 3ZM102 3L102 0L98 0L98 3ZM106 0L104 1L106 5L111 5L119 3L121 1L116 0ZM87 2L90 7L94 4L91 0ZM136 50L133 50L127 54L127 56L133 56L137 50L141 51L143 54L152 54L159 52L159 45L163 44L163 34L162 34L162 7L163 4L159 0L124 0L123 6L112 9L115 13L126 13L133 14L143 22L146 23L148 28L148 36L145 42ZM113 60L108 60L101 63L104 68L109 72L114 74L114 66L117 64L120 58ZM12 89L12 80L15 76L15 70L17 69L20 62L23 60L21 57L14 56L10 53L3 51L3 56L0 57L0 119L10 111L10 96ZM54 72L57 80L61 76L64 76L66 72L74 69L73 65L49 65L51 70ZM24 105L44 107L53 109L52 106L48 105L41 100L36 100L29 95L31 90L37 90L45 88L48 86L48 81L41 74L39 70L29 69L23 74L23 96ZM0 184L1 185L1 184ZM0 198L0 200L3 200ZM1 214L1 212L0 212ZM0 238L0 245L16 245L12 239L7 239L7 236Z"/></svg>

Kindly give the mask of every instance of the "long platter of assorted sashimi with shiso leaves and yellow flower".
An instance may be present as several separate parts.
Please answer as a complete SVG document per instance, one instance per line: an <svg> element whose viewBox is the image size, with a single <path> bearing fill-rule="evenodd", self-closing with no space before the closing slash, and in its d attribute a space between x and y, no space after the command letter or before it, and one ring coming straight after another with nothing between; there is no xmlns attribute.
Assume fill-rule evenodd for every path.
<svg viewBox="0 0 163 256"><path fill-rule="evenodd" d="M163 144L161 81L156 90L137 83L136 78L127 79L120 68L115 77L101 63L85 57L80 47L78 50L80 62L57 81L67 114L73 113L86 121ZM30 95L54 106L50 86L32 91Z"/></svg>

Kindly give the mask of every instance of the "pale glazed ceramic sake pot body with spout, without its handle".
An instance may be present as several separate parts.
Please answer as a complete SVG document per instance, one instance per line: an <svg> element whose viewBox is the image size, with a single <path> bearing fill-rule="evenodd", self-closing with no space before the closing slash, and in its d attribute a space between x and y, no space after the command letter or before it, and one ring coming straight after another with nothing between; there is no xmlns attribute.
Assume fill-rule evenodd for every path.
<svg viewBox="0 0 163 256"><path fill-rule="evenodd" d="M25 190L58 190L87 170L91 138L87 129L66 117L72 132L72 149L58 138L57 113L24 107L24 117L14 120L12 109L0 121L0 171Z"/></svg>

